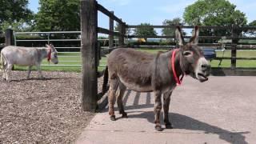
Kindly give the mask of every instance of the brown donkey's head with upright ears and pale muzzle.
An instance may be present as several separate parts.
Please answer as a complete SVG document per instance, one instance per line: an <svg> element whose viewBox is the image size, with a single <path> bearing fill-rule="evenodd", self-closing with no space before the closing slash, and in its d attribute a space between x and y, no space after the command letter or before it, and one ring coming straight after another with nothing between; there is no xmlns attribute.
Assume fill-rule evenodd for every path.
<svg viewBox="0 0 256 144"><path fill-rule="evenodd" d="M195 26L190 42L185 44L180 27L178 26L175 31L178 45L180 46L182 71L185 74L190 74L191 77L198 79L200 82L205 82L210 75L210 64L204 58L202 49L198 46L198 34L198 26Z"/></svg>

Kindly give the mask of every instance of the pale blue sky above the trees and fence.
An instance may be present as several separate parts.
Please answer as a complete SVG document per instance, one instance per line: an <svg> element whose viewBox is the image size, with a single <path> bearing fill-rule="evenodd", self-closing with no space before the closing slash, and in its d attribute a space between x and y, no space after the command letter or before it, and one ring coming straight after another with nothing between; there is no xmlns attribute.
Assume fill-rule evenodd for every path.
<svg viewBox="0 0 256 144"><path fill-rule="evenodd" d="M162 25L165 19L182 18L186 6L197 0L98 0L98 3L113 10L118 18L129 25L139 25L142 22L151 25ZM256 20L255 0L229 0L246 14L248 22ZM29 8L38 12L38 0L29 0ZM108 28L109 18L98 13L98 26Z"/></svg>

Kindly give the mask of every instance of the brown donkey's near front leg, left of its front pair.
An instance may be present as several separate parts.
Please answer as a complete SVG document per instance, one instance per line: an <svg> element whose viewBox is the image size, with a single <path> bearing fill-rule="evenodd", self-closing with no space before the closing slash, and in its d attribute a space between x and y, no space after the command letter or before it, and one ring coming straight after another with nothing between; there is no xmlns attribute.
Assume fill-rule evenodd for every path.
<svg viewBox="0 0 256 144"><path fill-rule="evenodd" d="M162 109L161 92L160 90L154 91L154 123L155 130L162 131L160 124L160 113Z"/></svg>

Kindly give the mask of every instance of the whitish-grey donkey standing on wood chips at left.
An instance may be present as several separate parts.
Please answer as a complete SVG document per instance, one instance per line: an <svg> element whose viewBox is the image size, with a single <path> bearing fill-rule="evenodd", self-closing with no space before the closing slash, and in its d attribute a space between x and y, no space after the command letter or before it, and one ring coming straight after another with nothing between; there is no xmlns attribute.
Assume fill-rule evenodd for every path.
<svg viewBox="0 0 256 144"><path fill-rule="evenodd" d="M10 71L14 65L29 66L27 78L30 78L32 66L37 66L40 78L43 78L41 71L42 59L47 58L48 62L58 63L58 51L53 45L46 47L22 47L6 46L1 50L0 66L2 78L10 81Z"/></svg>

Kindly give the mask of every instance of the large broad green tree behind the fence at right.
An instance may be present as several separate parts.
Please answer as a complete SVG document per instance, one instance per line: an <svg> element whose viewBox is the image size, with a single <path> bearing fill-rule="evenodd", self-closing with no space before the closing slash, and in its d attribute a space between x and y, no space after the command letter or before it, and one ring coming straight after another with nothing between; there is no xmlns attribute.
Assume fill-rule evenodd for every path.
<svg viewBox="0 0 256 144"><path fill-rule="evenodd" d="M199 26L245 26L246 14L235 10L236 6L226 0L198 0L187 6L183 18L189 25ZM204 30L206 35L226 35L230 30ZM241 34L242 31L236 31Z"/></svg>

